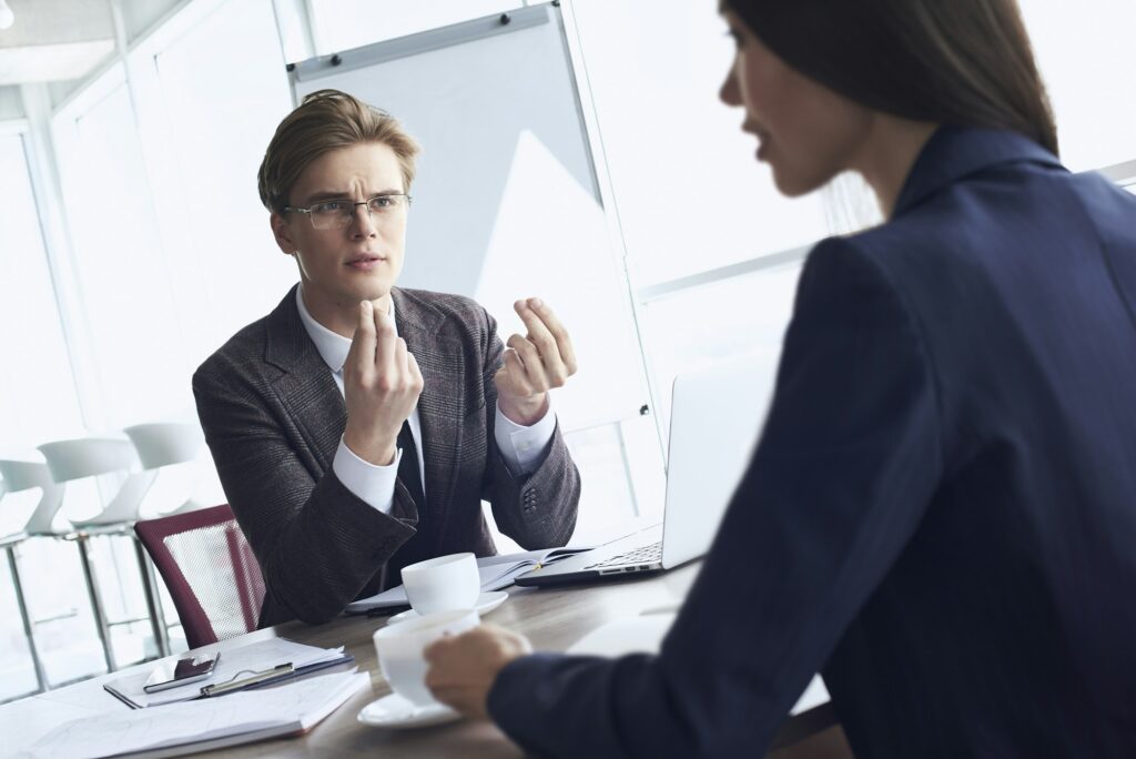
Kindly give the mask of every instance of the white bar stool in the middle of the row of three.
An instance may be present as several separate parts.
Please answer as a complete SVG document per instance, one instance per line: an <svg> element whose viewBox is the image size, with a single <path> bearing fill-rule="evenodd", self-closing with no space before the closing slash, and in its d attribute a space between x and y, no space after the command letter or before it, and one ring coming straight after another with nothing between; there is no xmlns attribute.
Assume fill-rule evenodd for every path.
<svg viewBox="0 0 1136 759"><path fill-rule="evenodd" d="M83 566L83 578L86 582L91 609L94 614L99 642L102 644L103 657L108 670L117 669L114 647L110 640L111 623L107 619L106 604L100 592L98 576L91 556L91 539L97 536L133 536L133 525L137 520L139 506L153 483L156 472L139 472L137 454L134 445L127 440L111 437L83 437L78 440L61 440L39 445L39 450L48 461L48 469L57 484L66 485L85 477L102 475L125 475L115 497L106 507L92 517L73 519L74 531L65 535L78 545L80 559ZM145 553L140 551L135 541L135 556L142 579L147 609L150 612L150 625L158 648L158 654L164 656L161 620L157 618L154 585L152 573L148 568ZM127 619L122 623L140 622Z"/></svg>

